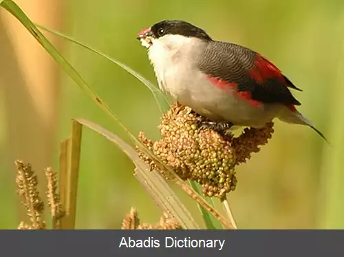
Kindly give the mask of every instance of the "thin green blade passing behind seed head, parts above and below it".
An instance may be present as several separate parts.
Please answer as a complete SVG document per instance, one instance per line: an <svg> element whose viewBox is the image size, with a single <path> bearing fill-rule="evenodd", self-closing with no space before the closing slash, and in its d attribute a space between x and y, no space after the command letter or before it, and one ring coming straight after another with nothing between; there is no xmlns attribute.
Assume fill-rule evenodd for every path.
<svg viewBox="0 0 344 257"><path fill-rule="evenodd" d="M89 46L85 43L81 43L80 41L77 41L76 39L73 39L72 37L69 37L65 34L62 34L61 32L58 32L56 30L50 30L49 28L45 28L45 27L43 27L41 25L37 25L37 24L36 24L36 26L47 31L47 32L50 32L50 33L56 35L58 37L63 37L63 39L67 39L68 41L71 41L72 43L76 43L76 44L82 46L83 48L86 48L87 50L90 50L96 54L99 54L100 56L105 57L109 61L116 63L121 68L123 68L124 70L126 70L127 72L129 72L130 74L135 76L139 81L144 83L144 85L146 85L147 88L149 88L149 90L151 90L151 93L153 94L155 101L157 102L157 104L160 108L160 111L162 113L169 110L169 103L166 100L166 98L164 97L164 94L162 94L162 92L160 90L158 90L158 88L155 88L155 86L150 81L148 81L143 76L138 74L138 72L135 72L134 70L129 68L127 65L120 63L119 61L116 61L116 59L108 56L107 54L104 54L103 52L100 52L100 51L92 48L91 46ZM202 191L200 191L200 188L197 187L197 183L193 183L191 181L190 185L191 185L191 187L193 187L193 189L195 189L196 192L198 192L198 194L200 194L200 196L202 196ZM211 198L205 198L205 199L206 199L208 204L210 204L212 207L214 207L214 203L213 203L213 200ZM198 205L198 207L200 209L200 212L202 214L202 217L203 217L203 220L204 220L204 223L205 223L207 229L222 229L221 223L219 223L219 221L216 218L214 218L214 216L212 216L211 214L206 212L206 210L201 205Z"/></svg>

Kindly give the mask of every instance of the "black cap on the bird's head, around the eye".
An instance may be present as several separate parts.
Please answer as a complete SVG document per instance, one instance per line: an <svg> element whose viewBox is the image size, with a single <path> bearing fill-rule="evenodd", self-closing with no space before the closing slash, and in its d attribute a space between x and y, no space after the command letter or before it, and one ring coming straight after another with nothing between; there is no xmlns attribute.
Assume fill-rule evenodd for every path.
<svg viewBox="0 0 344 257"><path fill-rule="evenodd" d="M166 34L180 34L184 37L197 37L198 39L211 40L201 28L186 21L160 21L151 27L154 37L163 37Z"/></svg>

